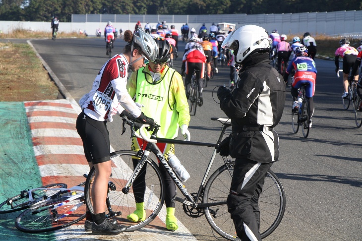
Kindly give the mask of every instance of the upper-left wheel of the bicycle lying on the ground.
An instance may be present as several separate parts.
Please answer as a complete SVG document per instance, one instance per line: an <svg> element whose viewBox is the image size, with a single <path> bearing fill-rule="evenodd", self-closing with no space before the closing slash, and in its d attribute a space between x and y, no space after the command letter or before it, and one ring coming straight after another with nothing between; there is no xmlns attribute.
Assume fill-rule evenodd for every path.
<svg viewBox="0 0 362 241"><path fill-rule="evenodd" d="M54 183L37 188L66 188L65 183ZM29 187L30 188L30 187ZM32 188L31 188L32 189ZM47 199L60 192L60 190L39 189L32 191L33 200L29 201L29 189L21 191L20 194L10 197L0 203L0 213L12 213L28 208L32 203ZM13 208L14 207L14 208Z"/></svg>

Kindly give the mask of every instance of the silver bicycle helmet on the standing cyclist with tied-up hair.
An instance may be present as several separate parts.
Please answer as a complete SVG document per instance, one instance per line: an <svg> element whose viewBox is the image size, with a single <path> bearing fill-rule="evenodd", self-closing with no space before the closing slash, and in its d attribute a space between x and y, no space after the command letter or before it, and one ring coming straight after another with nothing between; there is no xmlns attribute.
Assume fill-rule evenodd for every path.
<svg viewBox="0 0 362 241"><path fill-rule="evenodd" d="M133 42L141 47L148 60L154 62L158 55L158 47L155 40L142 29L133 34Z"/></svg>

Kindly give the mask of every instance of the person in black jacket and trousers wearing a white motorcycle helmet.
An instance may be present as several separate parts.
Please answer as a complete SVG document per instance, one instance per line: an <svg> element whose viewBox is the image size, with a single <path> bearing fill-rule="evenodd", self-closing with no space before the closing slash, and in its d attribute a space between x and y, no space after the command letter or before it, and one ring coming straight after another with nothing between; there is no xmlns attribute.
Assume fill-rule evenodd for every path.
<svg viewBox="0 0 362 241"><path fill-rule="evenodd" d="M274 127L282 118L286 90L283 76L269 64L269 46L265 29L256 25L234 30L222 44L242 66L235 90L220 87L217 92L220 108L232 123L232 134L218 151L236 159L228 210L242 241L261 241L258 197L279 157Z"/></svg>

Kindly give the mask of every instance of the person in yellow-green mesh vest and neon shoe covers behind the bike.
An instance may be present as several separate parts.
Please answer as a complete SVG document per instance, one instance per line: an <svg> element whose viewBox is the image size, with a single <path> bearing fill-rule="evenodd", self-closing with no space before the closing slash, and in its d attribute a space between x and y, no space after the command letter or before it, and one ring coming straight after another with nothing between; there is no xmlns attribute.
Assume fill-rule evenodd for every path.
<svg viewBox="0 0 362 241"><path fill-rule="evenodd" d="M143 105L146 116L155 120L161 127L157 137L174 139L178 136L179 127L185 140L190 140L187 130L190 121L188 104L181 75L166 65L172 53L170 43L164 38L155 38L159 53L154 62L133 72L127 82L127 90L135 101ZM151 132L149 133L151 135ZM143 144L142 139L133 137L132 150L139 150ZM143 145L145 147L146 145ZM175 154L174 144L157 143L164 156ZM133 166L138 160L133 160ZM162 164L159 165L162 166ZM175 231L179 227L175 217L176 185L164 168L160 168L166 184L166 228ZM144 183L144 182L143 182ZM137 186L138 190L134 188ZM139 187L138 187L139 186ZM144 193L145 187L133 183L134 193ZM135 195L136 210L127 216L132 222L143 221L146 218L144 210L144 196Z"/></svg>

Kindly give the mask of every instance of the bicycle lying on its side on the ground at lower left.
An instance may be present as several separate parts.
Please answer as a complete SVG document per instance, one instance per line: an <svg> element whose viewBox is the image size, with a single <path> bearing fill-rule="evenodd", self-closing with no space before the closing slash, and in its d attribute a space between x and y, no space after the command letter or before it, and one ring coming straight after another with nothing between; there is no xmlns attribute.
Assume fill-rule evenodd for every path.
<svg viewBox="0 0 362 241"><path fill-rule="evenodd" d="M67 188L64 183L25 189L0 204L1 213L24 210L15 219L15 227L27 233L59 230L84 219L84 184Z"/></svg>

